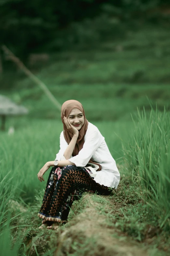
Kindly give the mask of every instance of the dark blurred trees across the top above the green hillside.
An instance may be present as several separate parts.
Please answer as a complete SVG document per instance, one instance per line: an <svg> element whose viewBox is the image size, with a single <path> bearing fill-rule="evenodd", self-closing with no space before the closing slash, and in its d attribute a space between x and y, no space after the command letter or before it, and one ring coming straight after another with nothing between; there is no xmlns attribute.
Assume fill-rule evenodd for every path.
<svg viewBox="0 0 170 256"><path fill-rule="evenodd" d="M20 57L100 43L126 35L145 21L167 26L168 0L1 0L0 44Z"/></svg>

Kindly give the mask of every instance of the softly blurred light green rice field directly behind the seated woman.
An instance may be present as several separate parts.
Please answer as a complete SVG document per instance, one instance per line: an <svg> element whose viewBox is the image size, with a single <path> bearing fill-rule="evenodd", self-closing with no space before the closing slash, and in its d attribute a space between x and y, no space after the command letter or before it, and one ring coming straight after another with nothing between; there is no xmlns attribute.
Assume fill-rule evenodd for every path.
<svg viewBox="0 0 170 256"><path fill-rule="evenodd" d="M7 127L11 123L15 126L18 120L8 120ZM121 141L126 140L130 124L125 122L94 124L105 137L115 160L121 158L123 156ZM46 162L55 159L59 151L63 124L58 120L25 119L22 120L21 126L16 128L12 135L8 135L7 132L0 134L1 175L4 177L10 172L11 179L8 183L17 187L15 195L30 201L34 198L35 189L45 188L45 182L39 182L37 173ZM45 174L46 179L47 176L48 172Z"/></svg>

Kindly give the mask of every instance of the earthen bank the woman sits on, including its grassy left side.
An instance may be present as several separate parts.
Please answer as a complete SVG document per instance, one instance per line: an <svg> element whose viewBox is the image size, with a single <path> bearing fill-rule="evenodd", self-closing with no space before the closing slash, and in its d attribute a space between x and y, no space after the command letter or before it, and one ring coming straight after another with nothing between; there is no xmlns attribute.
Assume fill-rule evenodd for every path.
<svg viewBox="0 0 170 256"><path fill-rule="evenodd" d="M110 205L111 202L111 205ZM115 199L85 194L58 230L32 229L25 239L29 256L163 256L163 250L137 242L113 223L121 205ZM110 215L109 215L109 214ZM53 251L53 252L51 252ZM52 253L52 254L51 254Z"/></svg>

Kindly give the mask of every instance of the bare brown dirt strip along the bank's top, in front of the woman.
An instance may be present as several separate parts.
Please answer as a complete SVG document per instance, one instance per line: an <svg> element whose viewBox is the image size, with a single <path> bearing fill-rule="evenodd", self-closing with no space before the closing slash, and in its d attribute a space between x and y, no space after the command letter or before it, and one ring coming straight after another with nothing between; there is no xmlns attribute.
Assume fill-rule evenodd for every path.
<svg viewBox="0 0 170 256"><path fill-rule="evenodd" d="M118 237L117 230L106 223L105 215L96 209L97 204L86 195L88 207L75 216L60 233L58 230L57 249L54 256L143 256L148 255L140 243L129 237ZM96 206L96 207L95 207Z"/></svg>

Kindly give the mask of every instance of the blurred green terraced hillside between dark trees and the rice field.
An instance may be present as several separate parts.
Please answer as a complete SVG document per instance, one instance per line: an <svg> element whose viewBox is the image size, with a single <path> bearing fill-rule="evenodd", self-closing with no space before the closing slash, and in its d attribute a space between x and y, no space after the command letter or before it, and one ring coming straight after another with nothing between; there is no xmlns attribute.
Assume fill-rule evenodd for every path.
<svg viewBox="0 0 170 256"><path fill-rule="evenodd" d="M150 101L169 110L169 44L167 29L147 26L125 40L103 42L101 49L53 53L47 63L27 64L61 104L79 100L89 121L129 121L136 107L150 111ZM0 83L2 94L27 107L30 117L60 119L43 91L15 66L4 69Z"/></svg>

